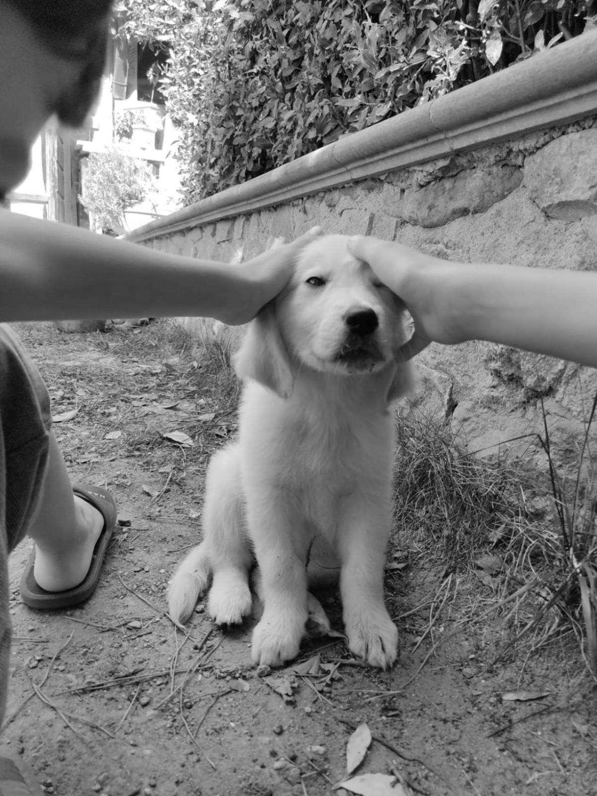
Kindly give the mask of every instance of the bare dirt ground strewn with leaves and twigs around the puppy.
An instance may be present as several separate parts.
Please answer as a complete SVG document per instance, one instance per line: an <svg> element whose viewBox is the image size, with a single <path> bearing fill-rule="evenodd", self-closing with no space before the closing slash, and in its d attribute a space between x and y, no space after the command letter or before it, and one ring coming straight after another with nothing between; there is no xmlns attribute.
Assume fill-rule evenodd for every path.
<svg viewBox="0 0 597 796"><path fill-rule="evenodd" d="M228 377L167 322L18 330L49 385L73 481L107 486L119 505L100 586L83 607L25 607L29 542L12 556L2 743L46 793L330 794L345 778L349 736L366 723L373 741L358 773L394 775L407 794L597 794L595 686L572 632L498 657L507 638L491 584L472 572L442 580L398 536L386 593L401 652L390 672L361 666L338 635L260 673L251 623L223 633L201 604L185 638L164 613L166 584L197 543L209 454L235 430ZM193 447L168 439L173 431ZM338 596L322 599L341 630Z"/></svg>

